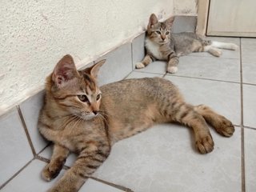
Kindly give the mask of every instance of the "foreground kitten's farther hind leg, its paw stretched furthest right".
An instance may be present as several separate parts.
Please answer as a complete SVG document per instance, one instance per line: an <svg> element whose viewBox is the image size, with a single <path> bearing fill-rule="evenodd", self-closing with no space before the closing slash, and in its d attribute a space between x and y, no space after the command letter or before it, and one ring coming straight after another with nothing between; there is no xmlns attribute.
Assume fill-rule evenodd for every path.
<svg viewBox="0 0 256 192"><path fill-rule="evenodd" d="M198 111L199 114L202 114L202 117L206 119L206 122L213 126L219 134L226 137L233 135L234 126L232 122L222 115L217 114L214 110L211 110L209 106L194 106L194 110Z"/></svg>

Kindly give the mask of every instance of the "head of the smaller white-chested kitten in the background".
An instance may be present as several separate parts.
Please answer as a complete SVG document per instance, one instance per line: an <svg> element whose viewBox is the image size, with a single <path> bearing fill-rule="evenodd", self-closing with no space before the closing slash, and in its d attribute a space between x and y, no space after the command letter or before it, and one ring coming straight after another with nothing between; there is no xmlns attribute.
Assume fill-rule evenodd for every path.
<svg viewBox="0 0 256 192"><path fill-rule="evenodd" d="M151 14L146 30L147 37L159 45L169 43L171 35L170 30L173 23L174 17L168 18L165 22L158 22L157 16L155 14Z"/></svg>

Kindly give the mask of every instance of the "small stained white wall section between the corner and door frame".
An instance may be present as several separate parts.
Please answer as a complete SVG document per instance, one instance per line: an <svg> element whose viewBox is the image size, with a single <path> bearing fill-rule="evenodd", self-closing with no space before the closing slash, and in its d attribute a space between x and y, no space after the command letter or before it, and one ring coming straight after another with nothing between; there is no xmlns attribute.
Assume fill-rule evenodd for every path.
<svg viewBox="0 0 256 192"><path fill-rule="evenodd" d="M175 15L196 16L198 13L198 0L174 0Z"/></svg>

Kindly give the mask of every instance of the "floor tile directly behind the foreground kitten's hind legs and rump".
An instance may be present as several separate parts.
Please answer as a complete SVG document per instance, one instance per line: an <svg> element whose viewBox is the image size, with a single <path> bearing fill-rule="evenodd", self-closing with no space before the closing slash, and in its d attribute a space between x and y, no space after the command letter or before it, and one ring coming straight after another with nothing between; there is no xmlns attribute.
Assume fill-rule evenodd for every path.
<svg viewBox="0 0 256 192"><path fill-rule="evenodd" d="M165 78L178 86L186 102L193 105L206 104L229 118L234 125L241 125L241 96L238 83L170 75L166 75Z"/></svg>

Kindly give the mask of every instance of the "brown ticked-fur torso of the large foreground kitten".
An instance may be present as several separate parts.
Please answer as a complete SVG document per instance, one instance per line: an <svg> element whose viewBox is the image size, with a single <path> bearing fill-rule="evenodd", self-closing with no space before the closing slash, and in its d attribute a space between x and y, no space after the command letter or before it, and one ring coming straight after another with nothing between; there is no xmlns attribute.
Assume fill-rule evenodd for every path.
<svg viewBox="0 0 256 192"><path fill-rule="evenodd" d="M100 87L101 110L107 114L112 143L130 137L154 122L165 122L161 111L172 99L181 98L178 89L164 78L138 78Z"/></svg>

